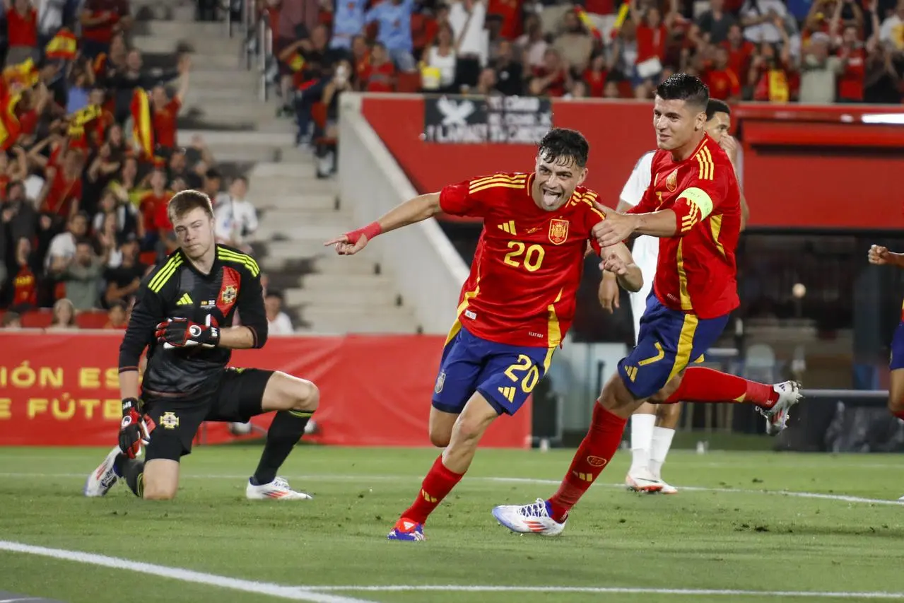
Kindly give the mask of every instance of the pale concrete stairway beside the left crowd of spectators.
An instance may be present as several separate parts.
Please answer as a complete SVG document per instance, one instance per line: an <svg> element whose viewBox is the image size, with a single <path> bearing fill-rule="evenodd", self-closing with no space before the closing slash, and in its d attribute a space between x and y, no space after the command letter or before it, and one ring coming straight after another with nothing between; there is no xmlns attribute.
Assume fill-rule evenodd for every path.
<svg viewBox="0 0 904 603"><path fill-rule="evenodd" d="M241 33L194 21L194 3L138 5L134 45L155 66L192 57L179 118L179 144L200 135L228 175L249 177L259 210L253 244L269 287L281 289L297 331L321 334L415 333L418 323L390 275L365 252L338 258L323 242L353 223L332 180L316 177L315 158L295 146L295 125L278 104L259 99L259 71L245 68ZM144 15L150 20L143 21Z"/></svg>

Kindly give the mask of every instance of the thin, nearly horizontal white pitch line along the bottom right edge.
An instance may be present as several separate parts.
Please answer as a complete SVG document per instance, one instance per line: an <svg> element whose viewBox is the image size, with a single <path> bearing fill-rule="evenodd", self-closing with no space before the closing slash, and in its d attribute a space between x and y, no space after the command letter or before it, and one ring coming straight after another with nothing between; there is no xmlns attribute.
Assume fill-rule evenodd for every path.
<svg viewBox="0 0 904 603"><path fill-rule="evenodd" d="M349 590L362 592L549 592L599 593L610 595L686 595L692 597L807 597L807 598L904 598L904 592L820 592L813 590L739 590L739 589L630 589L618 587L555 587L555 586L462 586L447 585L389 585L389 586L316 586L315 590Z"/></svg>

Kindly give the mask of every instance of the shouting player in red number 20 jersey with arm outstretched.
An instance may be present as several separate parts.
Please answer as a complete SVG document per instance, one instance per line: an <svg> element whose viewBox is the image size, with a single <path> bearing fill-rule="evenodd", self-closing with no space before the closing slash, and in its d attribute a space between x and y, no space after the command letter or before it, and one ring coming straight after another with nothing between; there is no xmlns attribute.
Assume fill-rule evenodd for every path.
<svg viewBox="0 0 904 603"><path fill-rule="evenodd" d="M430 409L430 440L445 449L390 540L424 539L428 515L465 475L485 430L521 408L549 368L574 316L588 241L600 252L601 268L614 272L622 287L641 287L640 269L624 243L600 250L593 237L604 215L594 205L597 194L581 186L588 153L579 132L552 129L541 140L533 173L448 185L325 243L349 255L381 232L439 212L484 218Z"/></svg>

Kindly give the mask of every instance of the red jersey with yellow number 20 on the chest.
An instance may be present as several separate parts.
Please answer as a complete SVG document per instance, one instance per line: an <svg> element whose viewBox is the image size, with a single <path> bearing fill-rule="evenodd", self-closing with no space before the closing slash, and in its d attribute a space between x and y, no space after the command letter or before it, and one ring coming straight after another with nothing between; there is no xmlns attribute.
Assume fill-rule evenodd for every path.
<svg viewBox="0 0 904 603"><path fill-rule="evenodd" d="M445 187L443 212L484 219L457 319L497 344L556 347L574 318L584 251L604 219L579 186L555 212L537 207L534 174L494 174Z"/></svg>

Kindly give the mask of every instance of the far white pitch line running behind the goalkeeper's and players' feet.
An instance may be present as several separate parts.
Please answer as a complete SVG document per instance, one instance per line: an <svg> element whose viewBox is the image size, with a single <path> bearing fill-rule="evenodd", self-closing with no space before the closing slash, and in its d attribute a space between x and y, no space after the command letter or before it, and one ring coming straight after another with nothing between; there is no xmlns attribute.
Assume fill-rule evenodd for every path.
<svg viewBox="0 0 904 603"><path fill-rule="evenodd" d="M80 474L80 473L0 473L0 477L78 477L83 479L88 474ZM189 473L183 474L187 479L237 479L237 480L246 480L248 479L247 475L225 475L225 474L198 474L192 475ZM355 482L366 482L367 480L374 481L400 481L400 480L421 480L422 477L419 476L377 476L372 474L367 475L355 475L355 474L344 474L341 476L335 475L325 475L325 474L309 474L309 475L297 475L284 476L287 479L299 479L299 480L310 480L310 481L321 481L321 482L346 482L346 481L355 481ZM537 485L559 485L559 480L554 479L538 479L533 477L486 477L486 476L467 476L466 478L469 481L481 481L481 482L500 482L500 483L511 483L511 484L537 484ZM604 488L624 488L624 484L594 484L594 487L604 487ZM819 492L796 492L791 490L754 490L750 488L710 488L704 486L697 485L675 485L675 487L680 490L686 490L688 492L717 492L721 494L745 494L745 495L778 495L778 496L791 496L795 498L815 498L820 500L830 500L830 501L839 501L842 503L862 503L862 504L885 504L891 506L904 506L904 501L900 500L888 500L884 498L865 498L862 496L851 496L851 495L830 495L823 494Z"/></svg>

